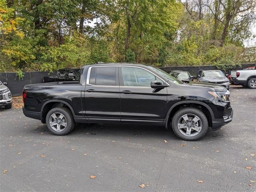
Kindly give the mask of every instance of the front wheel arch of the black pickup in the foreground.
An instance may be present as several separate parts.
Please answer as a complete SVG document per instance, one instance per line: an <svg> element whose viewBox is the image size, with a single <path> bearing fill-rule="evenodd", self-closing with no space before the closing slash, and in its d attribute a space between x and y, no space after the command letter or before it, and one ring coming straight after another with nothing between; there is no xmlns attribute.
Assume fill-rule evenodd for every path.
<svg viewBox="0 0 256 192"><path fill-rule="evenodd" d="M184 107L184 105L196 105L196 106L202 106L204 109L206 109L209 113L209 116L206 114L206 118L208 120L208 124L211 127L212 126L212 120L214 119L214 114L212 109L205 103L200 101L180 101L176 104L172 105L170 109L167 112L166 120L165 120L165 127L168 128L168 125L170 124L170 118L174 115L174 113L179 110L180 107ZM203 111L204 112L204 111Z"/></svg>

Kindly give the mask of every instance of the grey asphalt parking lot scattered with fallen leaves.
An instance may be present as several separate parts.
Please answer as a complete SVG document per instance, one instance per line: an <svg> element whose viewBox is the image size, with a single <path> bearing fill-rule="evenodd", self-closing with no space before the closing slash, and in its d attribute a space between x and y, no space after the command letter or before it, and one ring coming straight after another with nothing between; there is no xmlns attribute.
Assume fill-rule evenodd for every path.
<svg viewBox="0 0 256 192"><path fill-rule="evenodd" d="M256 191L256 90L230 92L233 121L195 142L119 124L54 136L22 109L1 109L0 190Z"/></svg>

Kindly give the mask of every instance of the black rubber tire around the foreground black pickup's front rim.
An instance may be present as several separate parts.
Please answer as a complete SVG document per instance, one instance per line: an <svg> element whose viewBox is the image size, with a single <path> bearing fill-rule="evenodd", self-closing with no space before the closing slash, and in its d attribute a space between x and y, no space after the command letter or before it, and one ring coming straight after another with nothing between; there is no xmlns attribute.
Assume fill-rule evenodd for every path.
<svg viewBox="0 0 256 192"><path fill-rule="evenodd" d="M186 136L179 131L178 121L185 114L193 114L193 115L198 116L198 118L200 118L200 120L202 122L202 128L197 135ZM172 118L172 130L173 130L174 134L182 140L195 141L195 140L202 138L208 131L208 120L207 120L206 116L204 115L204 113L197 108L192 108L192 107L182 108L182 109L178 110ZM194 131L194 130L192 130L192 131Z"/></svg>

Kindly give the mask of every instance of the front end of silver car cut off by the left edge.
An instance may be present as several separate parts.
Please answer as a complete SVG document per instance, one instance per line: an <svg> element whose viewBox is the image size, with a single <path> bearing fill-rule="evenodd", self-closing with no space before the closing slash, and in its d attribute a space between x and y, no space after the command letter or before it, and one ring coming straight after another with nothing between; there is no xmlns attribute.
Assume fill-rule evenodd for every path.
<svg viewBox="0 0 256 192"><path fill-rule="evenodd" d="M8 85L6 82L0 81L0 106L10 109L12 108L12 94L6 85Z"/></svg>

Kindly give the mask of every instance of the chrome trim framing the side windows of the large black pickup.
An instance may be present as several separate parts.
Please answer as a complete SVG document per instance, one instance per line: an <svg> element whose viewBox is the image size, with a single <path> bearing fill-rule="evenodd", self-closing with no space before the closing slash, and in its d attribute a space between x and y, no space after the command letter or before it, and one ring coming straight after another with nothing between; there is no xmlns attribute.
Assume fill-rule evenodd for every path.
<svg viewBox="0 0 256 192"><path fill-rule="evenodd" d="M154 76L157 76L160 80L162 80L163 82L165 82L168 86L170 86L169 83L167 83L165 80L163 80L162 78L160 78L158 75L154 74L153 72L151 72L148 69L145 69L143 67L138 67L138 66L127 66L127 65L107 65L107 66L92 66L88 68L88 72L87 72L87 78L86 78L86 85L90 85L90 86L99 86L99 87L132 87L132 88L151 88L151 87L136 87L136 86L108 86L108 85L92 85L90 84L90 74L91 74L91 69L93 67L133 67L133 68L140 68L140 69L144 69L150 73L152 73Z"/></svg>

